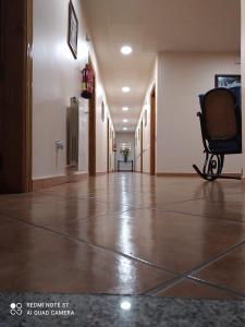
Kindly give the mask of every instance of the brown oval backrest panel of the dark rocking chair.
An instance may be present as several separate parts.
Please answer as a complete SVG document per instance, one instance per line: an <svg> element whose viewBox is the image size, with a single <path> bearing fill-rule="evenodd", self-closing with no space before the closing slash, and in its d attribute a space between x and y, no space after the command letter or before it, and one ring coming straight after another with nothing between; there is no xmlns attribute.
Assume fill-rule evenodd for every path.
<svg viewBox="0 0 245 327"><path fill-rule="evenodd" d="M223 87L209 90L201 99L206 137L231 140L240 131L234 94Z"/></svg>

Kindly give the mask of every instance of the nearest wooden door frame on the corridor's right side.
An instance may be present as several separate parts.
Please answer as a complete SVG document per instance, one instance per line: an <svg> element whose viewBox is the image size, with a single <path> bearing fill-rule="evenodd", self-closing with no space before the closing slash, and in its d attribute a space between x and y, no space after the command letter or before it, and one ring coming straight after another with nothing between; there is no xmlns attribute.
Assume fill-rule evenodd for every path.
<svg viewBox="0 0 245 327"><path fill-rule="evenodd" d="M150 175L156 174L156 85L150 93Z"/></svg>

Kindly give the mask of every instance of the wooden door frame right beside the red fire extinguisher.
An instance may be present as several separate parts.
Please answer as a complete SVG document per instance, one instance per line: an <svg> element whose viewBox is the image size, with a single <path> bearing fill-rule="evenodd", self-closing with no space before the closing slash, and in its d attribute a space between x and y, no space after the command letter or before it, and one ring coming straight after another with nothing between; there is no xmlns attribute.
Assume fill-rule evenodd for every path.
<svg viewBox="0 0 245 327"><path fill-rule="evenodd" d="M93 95L88 101L88 174L90 177L94 177L96 175L96 73L90 56L88 57L88 63L93 70L94 75Z"/></svg>

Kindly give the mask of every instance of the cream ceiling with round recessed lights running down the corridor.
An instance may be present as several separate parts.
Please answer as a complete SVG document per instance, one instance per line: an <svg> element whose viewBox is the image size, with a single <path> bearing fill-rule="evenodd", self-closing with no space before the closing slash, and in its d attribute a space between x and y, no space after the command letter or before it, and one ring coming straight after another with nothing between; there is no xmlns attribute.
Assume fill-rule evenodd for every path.
<svg viewBox="0 0 245 327"><path fill-rule="evenodd" d="M82 0L117 131L134 131L158 51L240 50L240 0ZM122 56L122 45L133 53ZM131 93L123 94L122 87ZM122 107L130 107L123 112ZM128 119L123 123L122 119Z"/></svg>

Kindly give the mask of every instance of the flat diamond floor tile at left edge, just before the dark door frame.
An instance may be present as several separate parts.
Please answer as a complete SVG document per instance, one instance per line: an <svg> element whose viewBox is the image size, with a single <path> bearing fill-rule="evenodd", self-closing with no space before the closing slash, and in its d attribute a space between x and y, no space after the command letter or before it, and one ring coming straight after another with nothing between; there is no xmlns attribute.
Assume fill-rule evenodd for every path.
<svg viewBox="0 0 245 327"><path fill-rule="evenodd" d="M22 219L35 225L48 225L51 222L66 223L98 215L122 213L131 209L121 203L101 203L91 198L77 199L38 194L36 197L27 197L0 205L0 214Z"/></svg>

